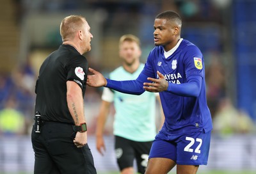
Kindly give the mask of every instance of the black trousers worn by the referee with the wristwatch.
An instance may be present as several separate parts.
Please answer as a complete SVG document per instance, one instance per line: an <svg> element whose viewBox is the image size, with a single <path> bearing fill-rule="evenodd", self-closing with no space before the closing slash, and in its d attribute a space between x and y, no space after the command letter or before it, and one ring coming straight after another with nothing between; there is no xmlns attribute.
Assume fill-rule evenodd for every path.
<svg viewBox="0 0 256 174"><path fill-rule="evenodd" d="M75 174L97 173L92 152L86 144L77 148L73 140L76 132L72 125L57 122L44 122L40 133L31 133L35 152L35 174Z"/></svg>

